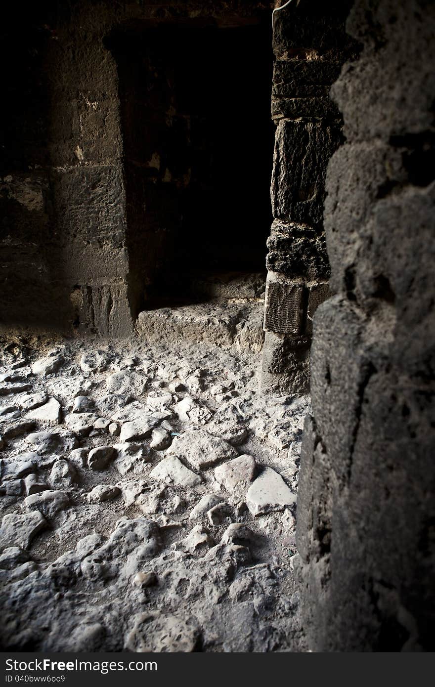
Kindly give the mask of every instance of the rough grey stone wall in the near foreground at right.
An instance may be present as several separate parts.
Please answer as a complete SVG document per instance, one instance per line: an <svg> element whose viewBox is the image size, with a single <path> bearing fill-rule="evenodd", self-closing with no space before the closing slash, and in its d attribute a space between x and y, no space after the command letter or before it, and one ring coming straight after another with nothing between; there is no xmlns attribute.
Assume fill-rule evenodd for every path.
<svg viewBox="0 0 435 687"><path fill-rule="evenodd" d="M304 618L319 651L434 650L435 8L357 0L333 95L344 144L325 227L298 491Z"/></svg>

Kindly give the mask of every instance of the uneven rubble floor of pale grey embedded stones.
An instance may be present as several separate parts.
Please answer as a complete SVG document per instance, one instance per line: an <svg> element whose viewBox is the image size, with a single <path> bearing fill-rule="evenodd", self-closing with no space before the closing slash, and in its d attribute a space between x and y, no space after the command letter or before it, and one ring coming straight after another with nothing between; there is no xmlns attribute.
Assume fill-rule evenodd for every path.
<svg viewBox="0 0 435 687"><path fill-rule="evenodd" d="M3 649L306 651L309 398L261 395L234 348L42 346L0 359Z"/></svg>

